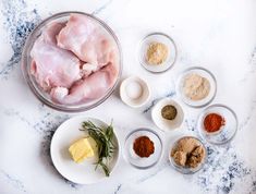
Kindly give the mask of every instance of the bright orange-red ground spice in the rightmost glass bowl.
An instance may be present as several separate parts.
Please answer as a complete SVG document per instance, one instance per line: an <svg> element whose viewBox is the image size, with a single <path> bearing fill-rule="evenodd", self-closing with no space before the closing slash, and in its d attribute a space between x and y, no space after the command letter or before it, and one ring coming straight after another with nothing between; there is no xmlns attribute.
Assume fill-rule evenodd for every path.
<svg viewBox="0 0 256 194"><path fill-rule="evenodd" d="M204 119L204 129L208 133L217 133L225 124L225 120L218 113L209 113Z"/></svg>

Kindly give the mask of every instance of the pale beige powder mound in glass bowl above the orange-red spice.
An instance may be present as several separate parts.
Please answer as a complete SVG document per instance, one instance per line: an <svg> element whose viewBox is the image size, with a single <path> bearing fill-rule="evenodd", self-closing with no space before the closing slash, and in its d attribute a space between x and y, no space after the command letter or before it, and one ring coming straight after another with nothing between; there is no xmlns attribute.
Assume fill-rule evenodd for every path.
<svg viewBox="0 0 256 194"><path fill-rule="evenodd" d="M183 93L193 101L202 100L209 95L210 83L199 74L190 73L184 78Z"/></svg>

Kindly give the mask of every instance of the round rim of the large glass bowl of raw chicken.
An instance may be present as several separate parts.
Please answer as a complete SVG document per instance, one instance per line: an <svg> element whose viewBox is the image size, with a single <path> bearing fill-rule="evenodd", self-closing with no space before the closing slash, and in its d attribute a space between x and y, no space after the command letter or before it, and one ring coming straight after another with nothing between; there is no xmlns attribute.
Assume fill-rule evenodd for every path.
<svg viewBox="0 0 256 194"><path fill-rule="evenodd" d="M32 83L31 78L29 78L29 73L27 72L27 51L28 51L28 47L31 46L31 41L32 38L35 36L35 34L45 25L47 25L49 22L52 22L53 20L58 20L64 16L69 16L70 14L75 13L75 14L82 14L82 15L86 15L88 17L90 17L92 20L98 22L109 34L110 36L114 39L114 43L117 44L118 50L119 50L119 74L117 77L117 81L114 83L114 85L106 93L105 96L102 96L101 98L99 98L96 102L89 105L89 106L83 106L83 104L81 104L81 107L75 107L75 108L71 108L69 106L65 105L54 105L52 101L50 101L50 99L47 99L46 97L44 97L41 94L38 93L37 89L40 89L39 86L38 88L36 88L34 86L34 84ZM34 96L44 105L57 110L57 111L61 111L61 112L69 112L69 113L78 113L78 112L83 112L86 110L90 110L97 106L99 106L100 104L102 104L105 100L107 100L111 94L114 92L114 89L118 86L118 83L121 78L122 75L122 71L123 71L123 54L122 54L122 48L121 48L121 44L117 37L117 35L114 34L114 32L100 19L98 19L97 16L89 14L89 13L85 13L85 12L80 12L80 11L65 11L65 12L59 12L56 13L53 15L50 15L48 17L46 17L45 20L42 20L33 31L32 33L27 36L23 51L22 51L22 59L21 59L21 68L22 68L22 74L23 77L25 78L28 87L31 88L32 93L34 94Z"/></svg>

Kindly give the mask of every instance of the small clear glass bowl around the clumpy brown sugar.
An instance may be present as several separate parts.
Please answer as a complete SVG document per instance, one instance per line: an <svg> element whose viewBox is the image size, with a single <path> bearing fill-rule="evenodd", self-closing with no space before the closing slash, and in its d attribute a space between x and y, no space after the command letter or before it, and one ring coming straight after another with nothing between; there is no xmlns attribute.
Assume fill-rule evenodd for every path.
<svg viewBox="0 0 256 194"><path fill-rule="evenodd" d="M174 147L176 147L179 141L181 141L181 140L183 140L183 138L195 138L195 140L197 140L197 141L200 143L200 145L202 145L202 146L204 147L204 149L205 149L205 158L203 159L203 161L202 161L196 168L187 168L187 167L179 166L179 165L175 163L175 161L174 161L173 158L171 157L171 151L172 151L172 149L173 149ZM193 173L199 171L199 170L204 167L204 165L206 163L206 161L207 161L207 149L206 149L205 145L203 144L203 142L202 142L199 138L194 137L194 136L182 136L181 138L176 140L173 145L171 145L171 148L170 148L170 150L169 150L169 161L171 162L172 167L173 167L176 171L179 171L179 172L181 172L181 173L184 173L184 174L193 174Z"/></svg>

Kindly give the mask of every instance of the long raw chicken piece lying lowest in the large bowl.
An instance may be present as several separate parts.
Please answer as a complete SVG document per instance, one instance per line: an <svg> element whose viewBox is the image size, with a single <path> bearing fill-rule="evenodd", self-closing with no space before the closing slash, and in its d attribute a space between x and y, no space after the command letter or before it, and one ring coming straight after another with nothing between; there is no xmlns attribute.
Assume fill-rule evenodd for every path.
<svg viewBox="0 0 256 194"><path fill-rule="evenodd" d="M102 97L113 86L117 77L117 65L110 63L75 83L70 90L64 87L56 87L50 95L54 101L65 105L89 102Z"/></svg>

